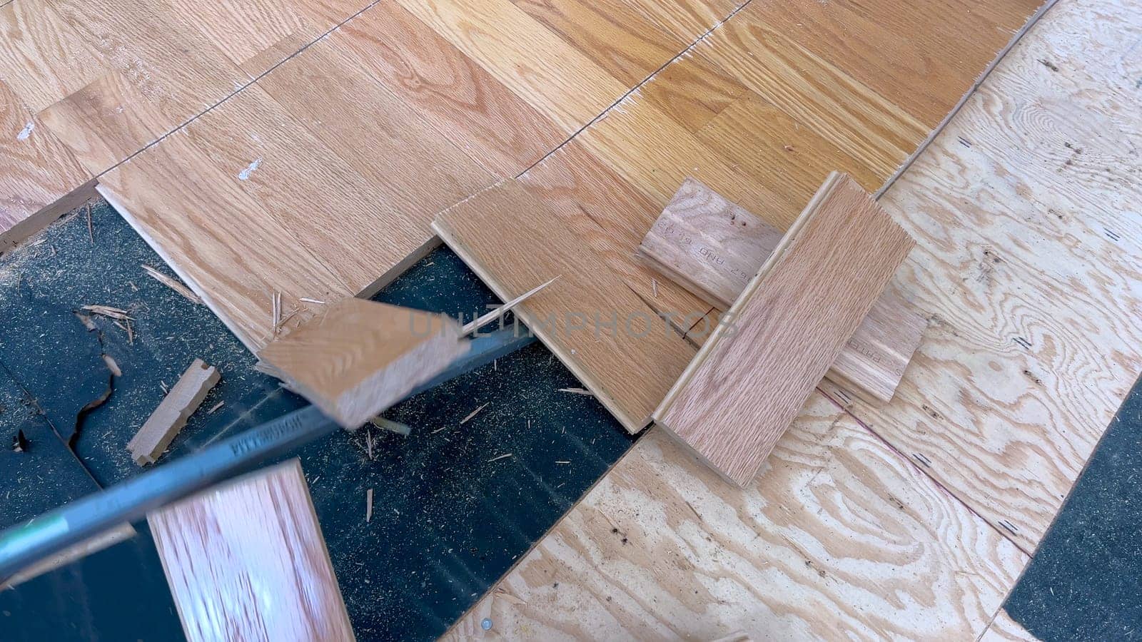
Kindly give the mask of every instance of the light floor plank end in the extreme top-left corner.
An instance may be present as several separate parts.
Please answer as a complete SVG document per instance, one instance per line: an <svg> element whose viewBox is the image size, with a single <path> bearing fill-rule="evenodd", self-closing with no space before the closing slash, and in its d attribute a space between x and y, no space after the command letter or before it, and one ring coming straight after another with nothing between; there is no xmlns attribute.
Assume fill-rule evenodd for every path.
<svg viewBox="0 0 1142 642"><path fill-rule="evenodd" d="M39 113L103 73L91 48L49 0L0 7L0 78Z"/></svg>

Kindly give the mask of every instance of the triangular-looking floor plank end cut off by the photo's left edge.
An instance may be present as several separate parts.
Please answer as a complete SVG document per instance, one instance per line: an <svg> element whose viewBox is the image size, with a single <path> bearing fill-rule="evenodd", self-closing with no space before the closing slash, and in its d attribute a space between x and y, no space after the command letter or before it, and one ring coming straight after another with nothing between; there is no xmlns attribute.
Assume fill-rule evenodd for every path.
<svg viewBox="0 0 1142 642"><path fill-rule="evenodd" d="M0 251L94 195L94 176L3 81L0 168Z"/></svg>

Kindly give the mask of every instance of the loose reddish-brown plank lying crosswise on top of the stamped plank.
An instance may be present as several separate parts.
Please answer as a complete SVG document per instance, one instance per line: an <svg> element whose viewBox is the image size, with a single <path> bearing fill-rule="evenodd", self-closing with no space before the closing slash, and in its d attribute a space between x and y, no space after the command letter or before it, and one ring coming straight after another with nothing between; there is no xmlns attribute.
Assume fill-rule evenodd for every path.
<svg viewBox="0 0 1142 642"><path fill-rule="evenodd" d="M654 419L748 484L914 244L854 180L830 174Z"/></svg>

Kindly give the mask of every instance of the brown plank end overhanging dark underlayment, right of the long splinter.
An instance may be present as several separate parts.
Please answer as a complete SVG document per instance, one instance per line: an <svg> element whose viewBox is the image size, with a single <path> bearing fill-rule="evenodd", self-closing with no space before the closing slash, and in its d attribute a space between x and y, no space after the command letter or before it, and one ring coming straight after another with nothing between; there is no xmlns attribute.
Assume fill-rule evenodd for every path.
<svg viewBox="0 0 1142 642"><path fill-rule="evenodd" d="M441 212L433 227L504 300L561 276L516 314L636 433L693 352L571 233L568 207L512 180ZM593 307L598 292L605 308Z"/></svg>

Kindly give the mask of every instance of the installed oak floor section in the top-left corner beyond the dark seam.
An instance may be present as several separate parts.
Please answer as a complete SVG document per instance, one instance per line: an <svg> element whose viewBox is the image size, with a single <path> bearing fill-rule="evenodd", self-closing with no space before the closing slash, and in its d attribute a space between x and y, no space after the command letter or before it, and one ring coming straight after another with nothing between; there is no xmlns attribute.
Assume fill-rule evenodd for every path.
<svg viewBox="0 0 1142 642"><path fill-rule="evenodd" d="M19 0L0 6L0 78L66 151L13 154L0 194L0 247L39 231L74 187L78 161L98 176L241 89L368 0L128 2ZM29 121L25 121L29 122ZM42 176L26 193L22 176ZM85 179L87 180L87 179ZM26 194L26 195L25 195ZM37 209L38 206L38 209Z"/></svg>

